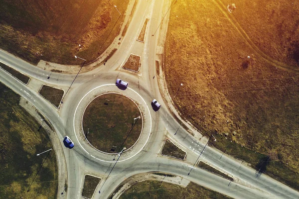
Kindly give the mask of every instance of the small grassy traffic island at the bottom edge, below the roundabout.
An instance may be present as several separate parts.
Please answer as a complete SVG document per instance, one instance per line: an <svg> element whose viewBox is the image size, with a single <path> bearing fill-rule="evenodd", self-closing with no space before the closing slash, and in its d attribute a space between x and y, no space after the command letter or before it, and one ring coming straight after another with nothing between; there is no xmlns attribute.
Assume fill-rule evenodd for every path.
<svg viewBox="0 0 299 199"><path fill-rule="evenodd" d="M86 174L84 176L84 186L83 186L82 196L84 198L91 199L100 181L101 178Z"/></svg>

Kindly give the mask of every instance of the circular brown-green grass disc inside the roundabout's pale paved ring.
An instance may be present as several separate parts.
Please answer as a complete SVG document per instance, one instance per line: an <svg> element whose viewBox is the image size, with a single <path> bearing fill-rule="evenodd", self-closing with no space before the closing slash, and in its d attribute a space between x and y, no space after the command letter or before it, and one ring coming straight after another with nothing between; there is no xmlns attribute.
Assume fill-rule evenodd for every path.
<svg viewBox="0 0 299 199"><path fill-rule="evenodd" d="M142 119L137 105L120 94L104 94L94 99L83 115L83 130L91 145L106 153L129 149L138 140ZM131 131L132 129L132 131ZM89 132L87 134L87 132ZM115 151L111 151L113 146Z"/></svg>

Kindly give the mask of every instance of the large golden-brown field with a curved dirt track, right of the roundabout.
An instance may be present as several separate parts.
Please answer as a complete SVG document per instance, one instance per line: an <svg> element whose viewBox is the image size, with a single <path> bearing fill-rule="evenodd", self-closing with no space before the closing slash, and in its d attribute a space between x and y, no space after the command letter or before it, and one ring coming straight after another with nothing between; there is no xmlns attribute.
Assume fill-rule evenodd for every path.
<svg viewBox="0 0 299 199"><path fill-rule="evenodd" d="M276 165L270 174L292 174L288 181L298 189L299 74L288 68L299 67L299 3L236 0L232 13L228 3L172 5L163 65L169 95L200 131L228 133L227 142L217 140L222 150L237 143L250 149L230 150L237 157L252 156L249 151L269 156ZM257 48L288 67L269 64Z"/></svg>

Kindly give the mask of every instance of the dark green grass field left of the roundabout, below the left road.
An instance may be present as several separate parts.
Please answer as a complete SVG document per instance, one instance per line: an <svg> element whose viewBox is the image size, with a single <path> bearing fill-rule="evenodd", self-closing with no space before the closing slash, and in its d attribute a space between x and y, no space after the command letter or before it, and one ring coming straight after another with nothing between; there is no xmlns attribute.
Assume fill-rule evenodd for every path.
<svg viewBox="0 0 299 199"><path fill-rule="evenodd" d="M19 105L19 100L20 96L0 84L0 198L56 199L55 151L47 132L39 128L40 124ZM36 156L50 148L51 151Z"/></svg>

